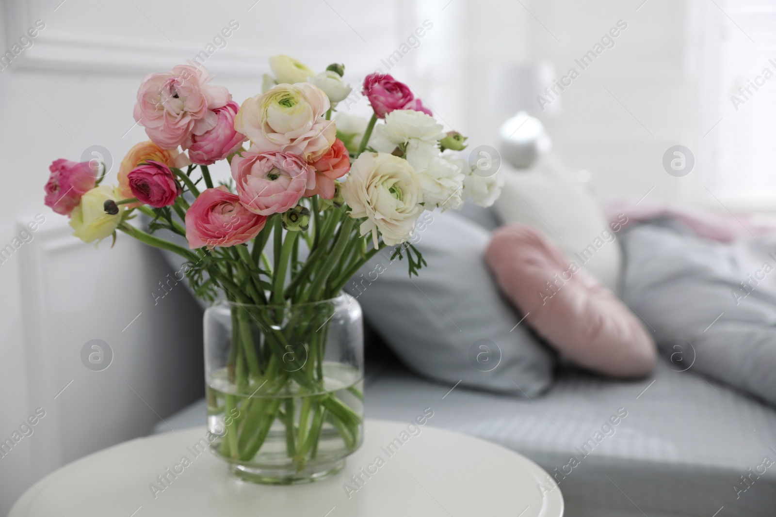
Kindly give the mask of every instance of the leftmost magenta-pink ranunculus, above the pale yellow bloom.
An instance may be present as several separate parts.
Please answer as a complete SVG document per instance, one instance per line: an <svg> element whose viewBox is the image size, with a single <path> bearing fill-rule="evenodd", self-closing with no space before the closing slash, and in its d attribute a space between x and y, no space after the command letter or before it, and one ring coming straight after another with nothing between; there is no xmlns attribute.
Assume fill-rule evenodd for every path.
<svg viewBox="0 0 776 517"><path fill-rule="evenodd" d="M46 205L54 212L70 215L81 202L81 196L95 188L97 174L88 161L54 160L46 182Z"/></svg>

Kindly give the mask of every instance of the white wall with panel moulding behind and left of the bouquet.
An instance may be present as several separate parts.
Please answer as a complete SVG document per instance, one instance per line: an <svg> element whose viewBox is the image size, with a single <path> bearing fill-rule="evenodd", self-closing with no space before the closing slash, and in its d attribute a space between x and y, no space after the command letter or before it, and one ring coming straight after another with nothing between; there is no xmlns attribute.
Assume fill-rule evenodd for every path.
<svg viewBox="0 0 776 517"><path fill-rule="evenodd" d="M46 416L0 457L0 515L29 481L142 436L159 416L203 394L199 307L182 286L154 305L151 291L170 272L155 250L121 235L113 249L109 240L95 249L71 237L67 219L43 205L50 162L81 160L88 146L104 146L114 163L106 181L115 181L126 150L146 140L132 118L141 78L206 49L233 19L239 29L206 66L242 102L259 92L269 55L288 53L319 70L344 62L346 78L357 83L431 18L435 26L420 47L390 73L458 122L463 110L456 91L435 88L439 78L460 75L456 55L445 56L444 69L428 59L445 55L456 39L453 7L442 11L410 0L3 2L3 51L37 19L46 26L33 47L0 71L0 247L12 243L19 222L38 213L45 222L32 242L0 264L0 439L12 436L35 408ZM352 107L367 111L365 101ZM223 167L217 171L226 174ZM105 371L81 364L81 347L95 338L113 349Z"/></svg>

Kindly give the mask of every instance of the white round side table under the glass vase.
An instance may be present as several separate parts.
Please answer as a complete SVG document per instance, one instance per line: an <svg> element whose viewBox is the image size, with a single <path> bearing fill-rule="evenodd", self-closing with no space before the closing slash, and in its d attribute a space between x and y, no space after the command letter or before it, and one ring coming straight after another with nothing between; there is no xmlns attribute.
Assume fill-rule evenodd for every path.
<svg viewBox="0 0 776 517"><path fill-rule="evenodd" d="M133 439L36 482L9 517L563 515L559 488L542 491L547 474L531 460L428 425L420 433L411 426L413 436L408 424L366 420L364 443L341 472L293 486L230 477L226 464L194 447L204 427ZM182 457L189 465L175 467Z"/></svg>

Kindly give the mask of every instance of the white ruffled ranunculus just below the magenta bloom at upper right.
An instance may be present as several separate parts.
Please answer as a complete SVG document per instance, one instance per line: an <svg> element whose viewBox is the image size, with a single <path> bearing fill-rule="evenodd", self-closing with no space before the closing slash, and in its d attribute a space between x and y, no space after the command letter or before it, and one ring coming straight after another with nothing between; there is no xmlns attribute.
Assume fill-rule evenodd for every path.
<svg viewBox="0 0 776 517"><path fill-rule="evenodd" d="M431 115L416 112L414 109L396 109L386 115L386 122L375 127L372 147L384 153L390 153L402 143L411 139L436 145L446 135L442 124Z"/></svg>

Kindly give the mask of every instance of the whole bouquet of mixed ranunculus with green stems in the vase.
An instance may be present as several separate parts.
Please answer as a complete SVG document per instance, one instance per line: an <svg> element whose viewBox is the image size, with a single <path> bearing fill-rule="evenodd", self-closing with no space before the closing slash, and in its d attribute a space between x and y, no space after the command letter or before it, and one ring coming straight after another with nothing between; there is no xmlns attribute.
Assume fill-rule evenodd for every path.
<svg viewBox="0 0 776 517"><path fill-rule="evenodd" d="M213 373L220 388L209 381L210 415L223 424L213 431L216 450L249 463L281 426L284 454L300 471L314 461L324 424L348 450L361 441L362 408L328 388L320 332L328 314L318 326L308 307L338 297L384 246L417 274L425 263L407 240L419 215L458 209L467 197L490 205L501 179L473 174L458 152L466 138L445 133L390 75L364 80L371 120L332 119L351 93L342 65L320 74L286 56L270 65L274 77L242 105L199 64L148 74L134 118L151 140L126 154L118 185L101 184L99 164L56 160L46 204L87 243L120 230L178 253L196 295L231 304L227 364ZM218 160L228 160L231 179L213 184L208 166ZM151 219L147 231L130 224L137 212ZM188 249L165 236L185 238ZM299 395L296 405L268 402L289 394Z"/></svg>

